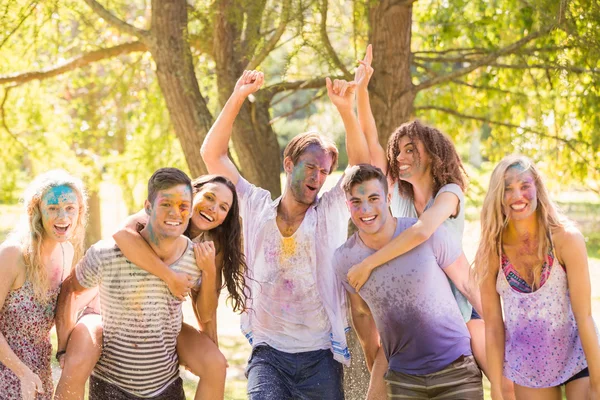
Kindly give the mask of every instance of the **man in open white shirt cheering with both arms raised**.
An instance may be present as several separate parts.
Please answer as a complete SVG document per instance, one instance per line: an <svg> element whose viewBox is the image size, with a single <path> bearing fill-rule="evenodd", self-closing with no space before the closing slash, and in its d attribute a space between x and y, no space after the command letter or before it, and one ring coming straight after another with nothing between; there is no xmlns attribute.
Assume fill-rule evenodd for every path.
<svg viewBox="0 0 600 400"><path fill-rule="evenodd" d="M243 219L249 312L242 330L252 344L248 397L343 399L342 364L349 362L345 340L344 291L331 266L333 251L347 237L348 210L340 183L317 194L336 167L335 144L315 132L294 137L284 151L283 195L244 179L227 149L242 104L264 81L245 71L202 145L210 173L225 175L237 188ZM349 164L368 162L364 137L354 115L354 83L327 79L329 98L346 128Z"/></svg>

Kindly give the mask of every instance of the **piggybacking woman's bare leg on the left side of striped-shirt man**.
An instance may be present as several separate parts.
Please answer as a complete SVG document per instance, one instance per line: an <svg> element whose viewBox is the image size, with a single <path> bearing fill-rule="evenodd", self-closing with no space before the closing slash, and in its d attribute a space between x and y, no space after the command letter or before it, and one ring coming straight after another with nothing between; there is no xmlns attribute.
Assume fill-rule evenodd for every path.
<svg viewBox="0 0 600 400"><path fill-rule="evenodd" d="M54 400L83 400L85 382L101 354L102 318L98 314L84 315L69 337Z"/></svg>

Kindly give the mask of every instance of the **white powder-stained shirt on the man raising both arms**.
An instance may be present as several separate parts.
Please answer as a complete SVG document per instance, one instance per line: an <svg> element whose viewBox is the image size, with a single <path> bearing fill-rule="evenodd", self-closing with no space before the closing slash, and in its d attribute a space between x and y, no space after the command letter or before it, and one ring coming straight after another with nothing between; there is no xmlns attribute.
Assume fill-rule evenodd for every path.
<svg viewBox="0 0 600 400"><path fill-rule="evenodd" d="M292 325L286 325L284 330L279 330L284 328L280 322L287 310L283 310L281 306L287 296L293 300L290 304L296 302L295 307L300 306L310 310L313 315L319 315L321 322L317 324L316 329L321 332L323 320L318 307L320 302L330 325L327 332L329 337L327 348L333 352L337 361L349 364L350 352L346 345L345 335L346 330L349 329L346 318L346 294L331 265L333 252L346 240L350 218L345 204L346 197L340 182L308 208L302 222L302 225L306 225L305 227L301 225L297 232L300 237L296 237L294 240L284 239L278 230L273 230L273 228L277 229L275 218L281 197L271 200L271 194L267 190L252 185L242 177L240 177L236 189L240 199L240 214L243 219L244 250L249 277L247 283L251 290L251 297L247 302L248 312L242 314L242 332L253 346L258 344L255 338L262 343L266 341L267 344L270 344L268 340L272 337L278 341L276 345L280 347L282 343L290 346L289 348L306 343L313 349L323 348L320 333L316 337L317 342L311 344L305 335L307 330L298 331L299 335L289 331L288 328L293 324L301 325L307 322L305 319L299 319L298 317L301 316L297 312L290 321ZM279 241L279 243L273 245L272 241ZM293 252L291 251L292 247L289 246L294 246ZM275 253L269 253L271 250L275 250ZM299 257L298 260L308 259L310 262L304 265L294 265L296 263L293 259L287 259L288 255L292 253L293 257ZM274 269L276 266L279 266L280 271ZM297 268L298 273L296 271L285 272L286 268ZM307 271L310 271L312 279L306 276ZM275 275L270 276L270 273ZM304 275L303 280L294 282L294 287L290 287L286 282L286 279L289 280L288 276L299 274ZM264 282L267 282L266 286ZM314 282L314 286L310 291L313 291L313 296L316 294L317 297L306 298L306 302L303 302L299 294L309 291L311 282ZM288 284L287 287L286 284ZM297 288L301 290L296 293ZM276 296L279 300L277 303L271 304L269 296ZM296 308L296 310L299 309ZM276 315L277 318L270 319L269 314ZM310 321L308 322L310 324ZM275 337L273 332L284 332L284 334L278 334Z"/></svg>

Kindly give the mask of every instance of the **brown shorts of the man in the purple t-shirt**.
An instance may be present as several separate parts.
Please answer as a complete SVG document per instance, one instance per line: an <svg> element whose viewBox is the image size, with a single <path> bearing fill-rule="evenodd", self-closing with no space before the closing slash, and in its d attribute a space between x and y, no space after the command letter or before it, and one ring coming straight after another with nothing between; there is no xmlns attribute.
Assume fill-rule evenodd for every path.
<svg viewBox="0 0 600 400"><path fill-rule="evenodd" d="M483 400L481 371L473 356L461 356L443 370L426 375L389 370L385 383L390 399Z"/></svg>

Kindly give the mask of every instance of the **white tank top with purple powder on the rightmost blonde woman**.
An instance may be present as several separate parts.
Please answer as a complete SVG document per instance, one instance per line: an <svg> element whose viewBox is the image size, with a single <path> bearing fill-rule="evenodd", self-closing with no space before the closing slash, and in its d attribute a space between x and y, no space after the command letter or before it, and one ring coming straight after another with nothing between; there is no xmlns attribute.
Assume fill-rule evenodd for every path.
<svg viewBox="0 0 600 400"><path fill-rule="evenodd" d="M496 290L504 310L504 375L508 379L526 387L553 387L587 367L567 273L556 257L550 276L536 291L516 291L502 270Z"/></svg>

